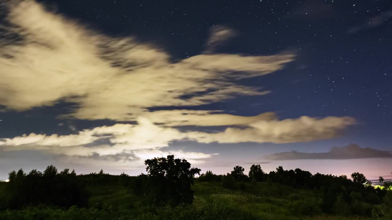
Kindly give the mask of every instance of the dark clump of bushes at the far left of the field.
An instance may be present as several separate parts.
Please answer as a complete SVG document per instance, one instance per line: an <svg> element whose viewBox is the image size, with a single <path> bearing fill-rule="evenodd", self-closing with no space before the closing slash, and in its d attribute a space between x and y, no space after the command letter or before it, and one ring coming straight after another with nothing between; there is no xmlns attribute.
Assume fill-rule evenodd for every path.
<svg viewBox="0 0 392 220"><path fill-rule="evenodd" d="M9 173L9 182L0 191L0 209L20 209L39 204L70 207L87 206L88 196L84 184L73 170L58 173L48 166L44 173L32 170L26 175L22 169Z"/></svg>

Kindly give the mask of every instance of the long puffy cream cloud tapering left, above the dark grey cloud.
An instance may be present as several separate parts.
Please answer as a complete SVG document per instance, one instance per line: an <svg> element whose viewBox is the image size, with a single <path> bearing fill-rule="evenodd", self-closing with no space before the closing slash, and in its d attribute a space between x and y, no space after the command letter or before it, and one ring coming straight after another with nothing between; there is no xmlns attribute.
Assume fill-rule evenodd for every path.
<svg viewBox="0 0 392 220"><path fill-rule="evenodd" d="M192 133L198 142L236 143L236 142L308 142L331 139L347 126L356 124L352 117L325 117L322 119L307 116L298 119L263 120L250 123L248 128L227 128L218 133Z"/></svg>

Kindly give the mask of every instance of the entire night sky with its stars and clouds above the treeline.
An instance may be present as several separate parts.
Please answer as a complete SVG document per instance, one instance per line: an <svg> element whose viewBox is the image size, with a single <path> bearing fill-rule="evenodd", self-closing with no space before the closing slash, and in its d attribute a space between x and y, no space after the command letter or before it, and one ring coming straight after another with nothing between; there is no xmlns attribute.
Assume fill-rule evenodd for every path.
<svg viewBox="0 0 392 220"><path fill-rule="evenodd" d="M389 0L0 0L0 179L392 171Z"/></svg>

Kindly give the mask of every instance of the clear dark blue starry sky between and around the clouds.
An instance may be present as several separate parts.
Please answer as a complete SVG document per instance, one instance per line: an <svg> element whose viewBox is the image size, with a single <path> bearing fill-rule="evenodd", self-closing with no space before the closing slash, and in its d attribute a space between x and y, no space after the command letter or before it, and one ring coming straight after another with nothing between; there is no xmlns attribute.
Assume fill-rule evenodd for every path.
<svg viewBox="0 0 392 220"><path fill-rule="evenodd" d="M294 61L273 74L238 81L241 85L270 90L270 94L236 96L198 106L157 106L150 110L223 110L242 116L276 112L279 119L302 115L350 116L358 123L330 140L216 146L189 142L187 149L218 152L220 157L227 158L238 155L243 158L238 163L252 158L254 152L260 155L291 150L325 152L332 146L350 143L392 150L392 4L389 0L38 2L98 33L118 38L134 36L140 43L152 43L170 54L172 62L203 53L214 25L224 25L235 32L234 37L221 43L217 53L296 54ZM116 123L109 119L56 118L71 112L70 106L60 100L54 106L1 112L0 138L32 132L68 135ZM181 144L174 143L171 148ZM19 166L16 163L11 167Z"/></svg>

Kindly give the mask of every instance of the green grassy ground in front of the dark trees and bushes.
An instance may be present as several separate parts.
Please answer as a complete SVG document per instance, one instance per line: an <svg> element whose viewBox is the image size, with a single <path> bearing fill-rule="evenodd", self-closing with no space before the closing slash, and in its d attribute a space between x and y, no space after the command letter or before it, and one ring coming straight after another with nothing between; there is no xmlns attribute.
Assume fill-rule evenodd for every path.
<svg viewBox="0 0 392 220"><path fill-rule="evenodd" d="M91 182L89 208L73 206L69 209L54 207L28 207L23 210L3 211L0 220L35 219L213 219L213 220L365 220L359 216L327 216L321 213L318 191L294 189L277 183L246 182L241 189L229 190L220 182L199 182L192 189L192 205L156 207L143 204L138 197L117 182ZM364 204L367 207L368 204ZM369 205L370 206L370 205Z"/></svg>

